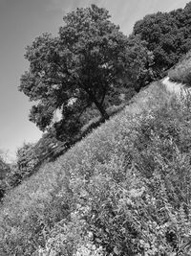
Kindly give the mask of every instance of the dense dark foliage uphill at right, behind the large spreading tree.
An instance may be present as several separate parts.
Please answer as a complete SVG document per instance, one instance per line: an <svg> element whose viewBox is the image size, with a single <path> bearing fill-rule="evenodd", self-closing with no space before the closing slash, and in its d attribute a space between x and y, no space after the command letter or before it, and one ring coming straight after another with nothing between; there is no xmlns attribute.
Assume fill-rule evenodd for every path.
<svg viewBox="0 0 191 256"><path fill-rule="evenodd" d="M146 15L134 26L134 35L145 40L154 54L158 77L178 62L191 49L191 3L173 12Z"/></svg>

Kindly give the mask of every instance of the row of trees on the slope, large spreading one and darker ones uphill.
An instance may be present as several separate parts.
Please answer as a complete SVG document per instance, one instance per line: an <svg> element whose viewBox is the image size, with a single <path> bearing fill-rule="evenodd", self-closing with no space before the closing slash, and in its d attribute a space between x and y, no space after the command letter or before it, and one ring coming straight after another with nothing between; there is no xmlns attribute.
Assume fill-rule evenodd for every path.
<svg viewBox="0 0 191 256"><path fill-rule="evenodd" d="M191 47L191 3L182 10L145 16L127 37L102 8L77 9L64 16L58 35L43 34L27 47L30 69L19 90L36 103L30 120L69 141L96 109L108 119L124 88L137 92L164 76ZM120 104L120 101L117 101ZM59 110L61 119L53 122Z"/></svg>

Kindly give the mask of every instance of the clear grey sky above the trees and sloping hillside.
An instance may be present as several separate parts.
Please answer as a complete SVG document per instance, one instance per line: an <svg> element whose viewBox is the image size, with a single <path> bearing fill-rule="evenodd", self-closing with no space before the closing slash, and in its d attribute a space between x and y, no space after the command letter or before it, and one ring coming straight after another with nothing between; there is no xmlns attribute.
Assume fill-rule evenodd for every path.
<svg viewBox="0 0 191 256"><path fill-rule="evenodd" d="M189 0L0 0L0 150L15 157L24 142L37 141L42 133L32 124L32 103L18 91L20 77L28 70L25 48L45 32L57 35L67 12L96 4L106 8L112 21L129 35L135 22L154 12L184 8Z"/></svg>

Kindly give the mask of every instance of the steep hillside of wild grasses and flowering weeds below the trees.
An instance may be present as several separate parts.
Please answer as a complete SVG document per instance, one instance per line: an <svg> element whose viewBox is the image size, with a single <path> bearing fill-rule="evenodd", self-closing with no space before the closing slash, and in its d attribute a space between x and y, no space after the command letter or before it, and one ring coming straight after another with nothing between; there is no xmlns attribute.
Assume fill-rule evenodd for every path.
<svg viewBox="0 0 191 256"><path fill-rule="evenodd" d="M180 103L160 82L151 84L132 105L12 190L0 210L0 255L188 250L186 99Z"/></svg>

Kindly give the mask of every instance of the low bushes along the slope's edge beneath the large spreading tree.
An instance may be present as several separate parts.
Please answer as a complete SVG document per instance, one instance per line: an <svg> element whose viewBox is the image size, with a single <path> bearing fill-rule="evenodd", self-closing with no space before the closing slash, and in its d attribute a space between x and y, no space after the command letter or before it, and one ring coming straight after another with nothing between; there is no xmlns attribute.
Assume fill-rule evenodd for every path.
<svg viewBox="0 0 191 256"><path fill-rule="evenodd" d="M129 94L130 98L132 98L134 93L135 92L132 91L132 94ZM114 105L107 108L108 115L112 117L117 114L126 104L127 102L125 101L123 105ZM90 114L91 113L86 113L86 118L88 118ZM7 172L7 169L4 169L7 175L3 176L2 188L4 188L4 190L2 197L6 191L18 186L23 180L38 172L43 163L53 161L58 156L68 151L76 142L84 138L94 128L100 126L103 120L97 116L96 118L92 118L90 122L86 122L87 121L85 121L85 125L80 129L80 132L76 133L73 138L70 138L70 142L58 141L55 138L54 129L50 128L37 143L24 143L24 145L17 150L16 162L11 165L9 172Z"/></svg>

